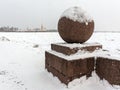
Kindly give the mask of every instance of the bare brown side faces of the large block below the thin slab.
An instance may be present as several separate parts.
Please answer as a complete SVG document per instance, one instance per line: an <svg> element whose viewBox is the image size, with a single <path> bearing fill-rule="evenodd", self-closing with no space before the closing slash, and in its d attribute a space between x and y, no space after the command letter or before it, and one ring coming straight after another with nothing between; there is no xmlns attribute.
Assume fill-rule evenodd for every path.
<svg viewBox="0 0 120 90"><path fill-rule="evenodd" d="M50 52L46 52L45 58L46 69L65 84L83 75L89 77L94 70L94 57L68 61Z"/></svg>

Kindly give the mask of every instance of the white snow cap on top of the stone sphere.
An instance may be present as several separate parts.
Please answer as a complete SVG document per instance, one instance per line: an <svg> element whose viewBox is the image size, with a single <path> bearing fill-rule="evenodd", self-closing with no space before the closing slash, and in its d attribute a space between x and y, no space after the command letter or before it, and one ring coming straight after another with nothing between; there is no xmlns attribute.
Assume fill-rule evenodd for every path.
<svg viewBox="0 0 120 90"><path fill-rule="evenodd" d="M71 7L65 10L61 16L80 23L91 22L92 17L80 7Z"/></svg>

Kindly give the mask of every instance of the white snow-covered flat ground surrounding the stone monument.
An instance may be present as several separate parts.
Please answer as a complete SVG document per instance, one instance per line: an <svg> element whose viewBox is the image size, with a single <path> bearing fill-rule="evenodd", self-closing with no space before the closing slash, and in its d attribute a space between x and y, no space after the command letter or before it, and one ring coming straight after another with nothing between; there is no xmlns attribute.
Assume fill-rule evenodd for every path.
<svg viewBox="0 0 120 90"><path fill-rule="evenodd" d="M104 49L120 53L120 33L94 33L87 42L98 42ZM105 80L85 76L68 86L48 73L45 50L51 43L64 42L55 33L0 33L0 90L120 90Z"/></svg>

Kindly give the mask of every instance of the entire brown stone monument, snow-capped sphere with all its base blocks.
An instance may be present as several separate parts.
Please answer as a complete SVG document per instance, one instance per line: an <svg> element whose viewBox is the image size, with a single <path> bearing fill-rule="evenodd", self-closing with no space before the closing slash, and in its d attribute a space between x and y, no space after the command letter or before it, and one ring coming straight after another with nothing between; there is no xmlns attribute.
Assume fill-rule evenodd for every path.
<svg viewBox="0 0 120 90"><path fill-rule="evenodd" d="M47 71L66 85L84 75L91 77L93 71L100 79L120 85L119 60L113 59L101 44L86 43L93 31L94 20L80 7L63 12L58 22L58 32L66 43L51 44L52 50L45 52Z"/></svg>

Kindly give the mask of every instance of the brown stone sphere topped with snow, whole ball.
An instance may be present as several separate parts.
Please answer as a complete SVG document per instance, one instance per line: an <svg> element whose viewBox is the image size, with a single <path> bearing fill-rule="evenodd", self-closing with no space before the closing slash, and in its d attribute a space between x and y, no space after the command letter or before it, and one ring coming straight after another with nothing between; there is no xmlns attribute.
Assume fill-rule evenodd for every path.
<svg viewBox="0 0 120 90"><path fill-rule="evenodd" d="M67 9L58 21L58 32L67 43L84 43L93 31L93 19L80 7Z"/></svg>

